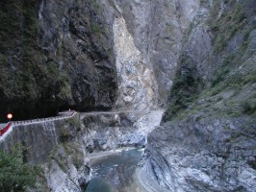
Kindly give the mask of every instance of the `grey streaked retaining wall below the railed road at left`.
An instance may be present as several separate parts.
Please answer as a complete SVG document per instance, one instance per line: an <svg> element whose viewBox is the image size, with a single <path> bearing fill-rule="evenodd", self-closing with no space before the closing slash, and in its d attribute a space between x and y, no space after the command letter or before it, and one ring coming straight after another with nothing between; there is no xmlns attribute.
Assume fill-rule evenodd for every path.
<svg viewBox="0 0 256 192"><path fill-rule="evenodd" d="M75 125L76 124L76 125ZM62 142L64 134L74 138L78 132L78 114L70 119L50 120L42 123L15 125L1 140L1 148L8 150L15 143L26 146L29 150L24 154L26 161L42 163L50 156L55 146Z"/></svg>

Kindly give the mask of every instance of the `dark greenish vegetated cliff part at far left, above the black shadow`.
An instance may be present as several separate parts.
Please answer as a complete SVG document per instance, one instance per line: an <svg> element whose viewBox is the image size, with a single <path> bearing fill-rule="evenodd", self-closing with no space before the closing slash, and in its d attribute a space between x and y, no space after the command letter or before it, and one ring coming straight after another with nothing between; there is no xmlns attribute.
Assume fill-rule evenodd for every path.
<svg viewBox="0 0 256 192"><path fill-rule="evenodd" d="M47 60L38 42L38 1L1 1L1 94L2 100L51 99L60 92L66 75L54 60Z"/></svg>

